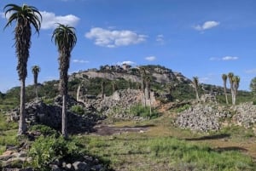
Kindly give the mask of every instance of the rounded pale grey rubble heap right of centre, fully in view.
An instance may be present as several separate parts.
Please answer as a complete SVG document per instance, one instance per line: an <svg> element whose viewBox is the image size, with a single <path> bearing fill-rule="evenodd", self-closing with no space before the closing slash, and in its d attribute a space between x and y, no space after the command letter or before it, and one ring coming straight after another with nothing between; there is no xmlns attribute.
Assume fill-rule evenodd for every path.
<svg viewBox="0 0 256 171"><path fill-rule="evenodd" d="M231 117L230 111L218 105L198 104L178 114L175 123L180 128L208 132L221 127L220 118Z"/></svg>

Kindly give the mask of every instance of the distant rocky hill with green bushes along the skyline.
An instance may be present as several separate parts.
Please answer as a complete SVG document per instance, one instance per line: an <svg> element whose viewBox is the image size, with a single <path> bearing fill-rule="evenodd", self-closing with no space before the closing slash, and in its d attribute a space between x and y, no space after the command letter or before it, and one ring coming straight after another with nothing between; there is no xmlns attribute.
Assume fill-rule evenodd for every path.
<svg viewBox="0 0 256 171"><path fill-rule="evenodd" d="M158 100L168 102L173 100L195 99L195 90L192 82L182 73L172 71L164 66L100 66L100 69L88 69L87 71L75 72L68 79L68 94L76 97L79 86L84 94L97 96L102 92L102 83L105 86L105 94L111 95L118 89L140 89L143 78L140 68L144 68L152 77L151 90L154 91ZM220 78L221 79L221 78ZM218 101L224 103L224 88L211 84L201 83L200 94L216 94ZM228 93L230 90L228 89ZM38 86L38 96L44 99L54 98L58 92L58 80L44 82ZM9 99L20 95L19 87L11 88L6 94L0 93L0 98ZM33 86L26 87L26 100L30 101L35 97ZM250 92L240 91L239 100L252 100ZM16 98L18 103L18 99Z"/></svg>

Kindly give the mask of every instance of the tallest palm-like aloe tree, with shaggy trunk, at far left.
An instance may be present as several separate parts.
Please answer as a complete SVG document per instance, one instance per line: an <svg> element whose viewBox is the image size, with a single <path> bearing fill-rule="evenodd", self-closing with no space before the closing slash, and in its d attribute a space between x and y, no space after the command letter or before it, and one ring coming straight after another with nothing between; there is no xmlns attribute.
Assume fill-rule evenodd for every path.
<svg viewBox="0 0 256 171"><path fill-rule="evenodd" d="M18 134L26 132L25 124L25 81L27 76L26 64L29 57L29 48L31 47L32 26L39 34L41 27L42 15L38 9L26 4L18 6L8 4L4 7L5 17L10 14L7 24L4 28L11 26L12 22L16 21L15 26L15 48L18 58L18 71L20 79L20 122Z"/></svg>

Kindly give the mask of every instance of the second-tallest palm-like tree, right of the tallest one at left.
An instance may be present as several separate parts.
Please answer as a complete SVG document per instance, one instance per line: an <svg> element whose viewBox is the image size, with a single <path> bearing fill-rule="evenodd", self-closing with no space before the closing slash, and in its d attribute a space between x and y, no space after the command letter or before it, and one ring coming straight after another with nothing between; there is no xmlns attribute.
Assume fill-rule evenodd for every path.
<svg viewBox="0 0 256 171"><path fill-rule="evenodd" d="M67 138L67 71L69 68L71 51L77 43L75 28L58 24L51 38L55 40L55 45L59 52L60 93L62 95L61 134Z"/></svg>

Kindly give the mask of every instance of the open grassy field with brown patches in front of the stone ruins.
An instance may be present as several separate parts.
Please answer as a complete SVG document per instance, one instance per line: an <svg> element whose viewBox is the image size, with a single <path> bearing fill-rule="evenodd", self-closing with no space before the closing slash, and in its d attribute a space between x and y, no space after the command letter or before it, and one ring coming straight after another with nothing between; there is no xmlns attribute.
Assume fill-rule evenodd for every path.
<svg viewBox="0 0 256 171"><path fill-rule="evenodd" d="M252 129L237 126L201 134L173 126L166 113L143 123L118 122L115 127L147 128L145 132L73 135L88 154L99 157L113 170L256 170L255 135ZM0 152L5 145L16 145L17 123L0 117ZM108 124L108 120L106 121Z"/></svg>

